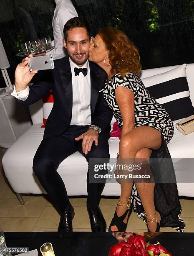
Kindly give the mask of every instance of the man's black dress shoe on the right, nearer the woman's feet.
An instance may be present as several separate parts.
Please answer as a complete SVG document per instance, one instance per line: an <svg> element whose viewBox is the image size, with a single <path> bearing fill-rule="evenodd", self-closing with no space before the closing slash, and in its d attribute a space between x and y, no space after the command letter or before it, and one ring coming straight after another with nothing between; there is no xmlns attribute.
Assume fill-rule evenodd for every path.
<svg viewBox="0 0 194 256"><path fill-rule="evenodd" d="M106 221L102 215L100 207L98 206L96 210L93 210L89 205L87 205L87 208L92 232L106 231Z"/></svg>

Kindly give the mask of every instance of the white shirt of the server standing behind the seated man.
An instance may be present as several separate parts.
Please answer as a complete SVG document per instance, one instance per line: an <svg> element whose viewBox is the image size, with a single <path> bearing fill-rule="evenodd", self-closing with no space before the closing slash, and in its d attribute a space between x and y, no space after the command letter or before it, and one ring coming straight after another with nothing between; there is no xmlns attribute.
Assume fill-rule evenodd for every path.
<svg viewBox="0 0 194 256"><path fill-rule="evenodd" d="M53 59L61 59L68 56L63 46L63 27L66 22L74 17L78 17L78 13L74 8L71 0L55 0L56 8L53 16L53 37L55 49L48 51L46 54L52 54Z"/></svg>

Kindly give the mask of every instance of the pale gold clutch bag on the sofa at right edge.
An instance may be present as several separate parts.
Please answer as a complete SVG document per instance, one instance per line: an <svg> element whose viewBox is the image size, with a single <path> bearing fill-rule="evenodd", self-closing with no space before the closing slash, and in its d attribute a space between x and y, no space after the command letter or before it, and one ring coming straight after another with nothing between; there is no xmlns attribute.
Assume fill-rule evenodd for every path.
<svg viewBox="0 0 194 256"><path fill-rule="evenodd" d="M179 123L176 123L176 128L184 135L192 133L194 131L194 115L191 115Z"/></svg>

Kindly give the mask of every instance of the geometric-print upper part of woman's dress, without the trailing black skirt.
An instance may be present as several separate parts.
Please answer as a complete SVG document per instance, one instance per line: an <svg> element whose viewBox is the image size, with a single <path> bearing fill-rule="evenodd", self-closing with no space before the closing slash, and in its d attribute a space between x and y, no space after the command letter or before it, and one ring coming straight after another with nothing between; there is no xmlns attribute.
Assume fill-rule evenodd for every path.
<svg viewBox="0 0 194 256"><path fill-rule="evenodd" d="M108 85L105 84L103 96L113 110L118 126L122 128L123 120L118 108L115 91L117 86L126 87L134 92L135 100L135 128L141 125L149 125L161 132L166 144L171 140L174 133L174 125L164 107L150 96L141 79L136 74L128 74L121 77L115 74L111 77Z"/></svg>

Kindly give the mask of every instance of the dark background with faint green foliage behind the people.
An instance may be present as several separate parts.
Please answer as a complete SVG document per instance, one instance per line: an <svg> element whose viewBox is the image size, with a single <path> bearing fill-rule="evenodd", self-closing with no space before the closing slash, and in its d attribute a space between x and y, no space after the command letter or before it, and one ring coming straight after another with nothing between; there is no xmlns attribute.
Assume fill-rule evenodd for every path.
<svg viewBox="0 0 194 256"><path fill-rule="evenodd" d="M101 27L124 31L139 48L143 69L194 62L194 0L73 0L95 36ZM0 0L0 37L13 82L20 44L53 39L53 0ZM3 79L0 79L1 85Z"/></svg>

